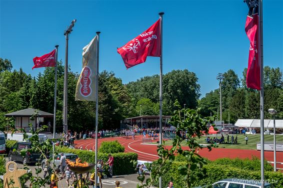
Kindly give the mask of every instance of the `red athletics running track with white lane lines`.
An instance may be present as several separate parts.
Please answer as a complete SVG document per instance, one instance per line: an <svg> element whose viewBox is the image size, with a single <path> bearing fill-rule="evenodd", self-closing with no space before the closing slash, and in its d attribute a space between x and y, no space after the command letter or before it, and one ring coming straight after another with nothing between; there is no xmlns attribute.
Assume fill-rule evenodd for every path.
<svg viewBox="0 0 283 188"><path fill-rule="evenodd" d="M142 161L153 161L158 159L157 151L156 151L156 145L151 144L142 144L142 136L138 135L135 136L135 140L132 140L130 137L129 139L126 139L124 137L114 137L114 138L103 138L98 139L98 148L103 141L113 141L117 140L122 146L125 147L125 152L134 152L138 154L138 160ZM75 148L82 149L91 149L94 151L95 149L95 140L89 139L89 140L76 140L74 141L74 144L76 144ZM168 146L168 148L170 148ZM188 149L188 147L182 147L183 149ZM209 160L215 160L218 158L240 158L245 159L249 158L251 159L253 156L260 159L260 151L257 150L237 150L237 149L224 149L224 148L213 148L210 152L208 149L204 148L202 150L199 150L199 155L207 158ZM273 152L264 152L264 159L267 161L272 162L274 160L273 158ZM276 152L276 161L283 163L283 152ZM277 168L283 168L283 165L277 164Z"/></svg>

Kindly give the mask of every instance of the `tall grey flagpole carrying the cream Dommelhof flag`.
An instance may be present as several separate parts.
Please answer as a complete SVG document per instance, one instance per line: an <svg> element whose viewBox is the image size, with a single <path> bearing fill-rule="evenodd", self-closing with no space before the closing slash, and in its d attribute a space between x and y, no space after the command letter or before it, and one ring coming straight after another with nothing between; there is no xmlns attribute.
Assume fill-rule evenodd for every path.
<svg viewBox="0 0 283 188"><path fill-rule="evenodd" d="M97 46L96 46L96 87L95 87L95 187L97 188L97 133L98 133L98 74L99 74L99 34L96 32L97 36Z"/></svg>

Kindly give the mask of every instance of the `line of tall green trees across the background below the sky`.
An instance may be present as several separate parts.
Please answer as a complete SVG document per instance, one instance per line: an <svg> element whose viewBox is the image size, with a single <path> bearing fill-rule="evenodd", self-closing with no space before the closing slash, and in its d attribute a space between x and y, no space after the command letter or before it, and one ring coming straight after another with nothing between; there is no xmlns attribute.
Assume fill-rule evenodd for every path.
<svg viewBox="0 0 283 188"><path fill-rule="evenodd" d="M26 74L20 68L12 70L12 63L0 58L0 130L4 130L7 120L4 114L35 108L53 113L54 67L46 67L36 77ZM259 118L259 93L245 87L245 72L240 80L233 70L224 73L222 82L223 118L230 122L240 118ZM62 130L63 109L62 62L57 69L57 110L56 126ZM74 93L79 74L68 67L68 128L71 130L93 130L95 127L95 102L75 101ZM217 114L219 90L216 89L200 97L200 85L195 73L172 70L163 76L163 115L172 115L174 102L186 108L201 107L206 117ZM265 109L274 108L283 117L282 73L279 68L264 67ZM113 72L102 71L98 80L98 126L99 129L119 128L120 120L139 115L159 115L159 75L145 76L136 81L122 84ZM265 111L266 112L266 111ZM266 117L269 117L265 113Z"/></svg>

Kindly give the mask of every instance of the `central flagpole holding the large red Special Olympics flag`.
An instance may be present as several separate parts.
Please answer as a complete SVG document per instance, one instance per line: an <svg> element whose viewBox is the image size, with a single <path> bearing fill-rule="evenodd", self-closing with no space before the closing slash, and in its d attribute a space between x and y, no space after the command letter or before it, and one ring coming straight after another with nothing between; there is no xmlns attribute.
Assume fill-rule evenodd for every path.
<svg viewBox="0 0 283 188"><path fill-rule="evenodd" d="M164 12L158 14L160 17L159 144L162 144L162 17ZM161 176L159 177L159 188L162 188Z"/></svg>

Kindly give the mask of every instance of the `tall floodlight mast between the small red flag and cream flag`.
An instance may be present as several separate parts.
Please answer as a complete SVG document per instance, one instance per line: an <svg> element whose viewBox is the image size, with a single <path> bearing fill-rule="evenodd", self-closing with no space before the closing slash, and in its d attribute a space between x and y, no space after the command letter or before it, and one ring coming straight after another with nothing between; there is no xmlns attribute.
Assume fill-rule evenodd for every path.
<svg viewBox="0 0 283 188"><path fill-rule="evenodd" d="M66 39L66 47L65 47L65 67L64 67L64 92L63 92L63 133L67 134L67 114L68 114L68 39L69 34L72 31L72 27L76 19L71 21L71 24L64 31L65 39Z"/></svg>

